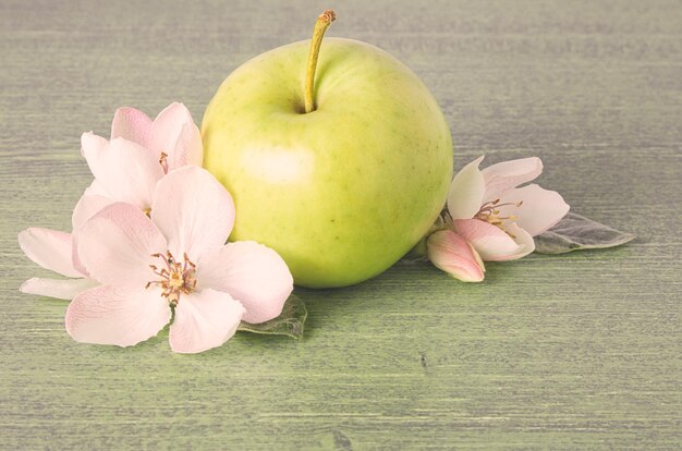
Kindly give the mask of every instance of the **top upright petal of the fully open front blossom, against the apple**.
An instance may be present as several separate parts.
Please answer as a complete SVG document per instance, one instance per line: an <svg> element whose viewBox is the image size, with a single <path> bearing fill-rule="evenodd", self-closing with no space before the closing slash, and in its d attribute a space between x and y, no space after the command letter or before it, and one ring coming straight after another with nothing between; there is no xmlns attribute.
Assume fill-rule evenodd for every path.
<svg viewBox="0 0 682 451"><path fill-rule="evenodd" d="M208 171L186 166L169 172L154 192L151 219L180 258L187 253L197 263L221 247L234 224L230 193Z"/></svg>

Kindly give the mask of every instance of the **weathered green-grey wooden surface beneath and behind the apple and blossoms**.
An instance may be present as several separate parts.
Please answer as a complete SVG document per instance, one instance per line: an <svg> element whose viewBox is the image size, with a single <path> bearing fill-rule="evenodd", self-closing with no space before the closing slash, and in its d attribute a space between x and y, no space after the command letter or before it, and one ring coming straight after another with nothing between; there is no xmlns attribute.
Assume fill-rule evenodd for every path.
<svg viewBox="0 0 682 451"><path fill-rule="evenodd" d="M73 342L19 249L70 229L82 132L172 100L202 119L241 62L308 37L317 1L1 0L0 447L680 449L680 1L344 1L329 35L377 45L443 108L455 167L538 156L623 247L490 264L463 284L399 265L302 291L306 336ZM324 48L322 48L324 51Z"/></svg>

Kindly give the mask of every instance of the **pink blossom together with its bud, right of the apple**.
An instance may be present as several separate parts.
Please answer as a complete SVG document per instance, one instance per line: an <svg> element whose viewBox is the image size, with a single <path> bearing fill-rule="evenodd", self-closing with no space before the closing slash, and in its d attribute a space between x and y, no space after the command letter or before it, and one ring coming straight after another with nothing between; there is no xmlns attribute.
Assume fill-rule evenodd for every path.
<svg viewBox="0 0 682 451"><path fill-rule="evenodd" d="M533 236L556 226L569 205L556 191L532 183L543 172L539 158L523 158L478 169L484 157L452 180L447 209L427 239L431 263L464 282L484 279L484 261L525 257Z"/></svg>

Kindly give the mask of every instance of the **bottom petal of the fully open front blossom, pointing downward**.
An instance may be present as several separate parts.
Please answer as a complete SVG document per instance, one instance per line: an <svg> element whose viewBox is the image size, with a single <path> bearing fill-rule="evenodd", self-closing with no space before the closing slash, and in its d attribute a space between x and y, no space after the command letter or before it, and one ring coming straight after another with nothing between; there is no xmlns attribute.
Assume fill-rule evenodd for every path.
<svg viewBox="0 0 682 451"><path fill-rule="evenodd" d="M170 327L170 345L175 352L194 354L228 341L240 326L244 307L228 293L203 290L180 298Z"/></svg>

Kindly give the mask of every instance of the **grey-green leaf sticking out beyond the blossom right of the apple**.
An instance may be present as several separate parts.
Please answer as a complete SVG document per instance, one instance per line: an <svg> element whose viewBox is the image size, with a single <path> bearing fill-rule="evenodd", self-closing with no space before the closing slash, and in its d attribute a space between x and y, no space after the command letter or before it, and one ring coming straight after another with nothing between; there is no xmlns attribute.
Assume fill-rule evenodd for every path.
<svg viewBox="0 0 682 451"><path fill-rule="evenodd" d="M579 249L620 246L632 240L632 233L620 232L592 219L569 212L547 232L534 237L538 254L564 254Z"/></svg>

